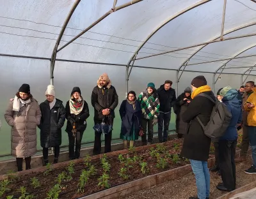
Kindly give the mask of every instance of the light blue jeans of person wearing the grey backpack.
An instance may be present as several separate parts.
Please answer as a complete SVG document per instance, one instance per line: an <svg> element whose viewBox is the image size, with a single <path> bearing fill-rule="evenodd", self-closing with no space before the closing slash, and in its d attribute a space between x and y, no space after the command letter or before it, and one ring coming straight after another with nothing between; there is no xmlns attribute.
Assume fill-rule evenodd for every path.
<svg viewBox="0 0 256 199"><path fill-rule="evenodd" d="M210 173L207 161L189 159L193 173L196 177L197 197L199 199L209 198L210 196Z"/></svg>

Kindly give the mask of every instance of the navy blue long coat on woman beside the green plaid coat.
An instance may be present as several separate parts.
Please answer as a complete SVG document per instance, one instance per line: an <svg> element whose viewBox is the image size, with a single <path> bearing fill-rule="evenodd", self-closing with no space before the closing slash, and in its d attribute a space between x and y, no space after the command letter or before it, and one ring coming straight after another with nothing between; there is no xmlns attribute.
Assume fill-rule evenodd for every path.
<svg viewBox="0 0 256 199"><path fill-rule="evenodd" d="M133 106L125 99L119 109L120 117L122 119L121 133L122 135L131 136L132 124L134 124L135 133L140 132L142 111L139 101L135 101L135 110Z"/></svg>

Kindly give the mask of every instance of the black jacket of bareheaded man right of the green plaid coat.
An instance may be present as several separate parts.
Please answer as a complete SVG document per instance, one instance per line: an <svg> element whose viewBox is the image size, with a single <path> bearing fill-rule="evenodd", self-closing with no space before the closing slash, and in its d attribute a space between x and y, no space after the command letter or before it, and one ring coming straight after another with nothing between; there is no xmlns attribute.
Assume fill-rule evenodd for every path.
<svg viewBox="0 0 256 199"><path fill-rule="evenodd" d="M175 90L170 88L168 91L165 91L163 84L157 89L157 94L160 101L160 112L171 112L176 102Z"/></svg>

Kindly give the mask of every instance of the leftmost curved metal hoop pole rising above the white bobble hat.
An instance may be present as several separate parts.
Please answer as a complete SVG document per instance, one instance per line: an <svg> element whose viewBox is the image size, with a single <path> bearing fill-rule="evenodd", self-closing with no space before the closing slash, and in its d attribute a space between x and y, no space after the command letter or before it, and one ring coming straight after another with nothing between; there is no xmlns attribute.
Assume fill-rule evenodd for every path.
<svg viewBox="0 0 256 199"><path fill-rule="evenodd" d="M74 11L76 10L77 8L77 5L80 3L81 0L76 0L75 3L73 4L71 10L69 11L68 13L68 16L63 24L63 26L61 27L61 31L60 31L60 34L58 36L58 39L56 40L56 43L55 43L55 46L54 46L54 49L52 50L52 57L51 57L51 85L53 85L53 72L54 72L54 65L55 65L55 61L56 61L56 55L57 55L57 49L58 49L58 46L60 44L60 40L64 34L64 31L68 25L68 22L70 20L70 18L72 17L72 14L74 13Z"/></svg>

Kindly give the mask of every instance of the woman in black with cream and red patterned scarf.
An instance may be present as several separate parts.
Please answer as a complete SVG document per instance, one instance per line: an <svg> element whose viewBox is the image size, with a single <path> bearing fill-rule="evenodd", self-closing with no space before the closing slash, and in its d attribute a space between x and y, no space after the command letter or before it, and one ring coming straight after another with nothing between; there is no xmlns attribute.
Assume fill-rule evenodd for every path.
<svg viewBox="0 0 256 199"><path fill-rule="evenodd" d="M67 101L66 112L69 159L78 159L80 156L83 133L87 126L86 119L90 115L88 104L81 96L79 87L73 88L71 98ZM73 126L76 127L76 133L72 133ZM75 141L76 149L74 151Z"/></svg>

